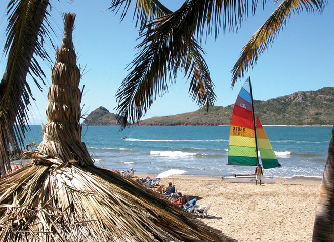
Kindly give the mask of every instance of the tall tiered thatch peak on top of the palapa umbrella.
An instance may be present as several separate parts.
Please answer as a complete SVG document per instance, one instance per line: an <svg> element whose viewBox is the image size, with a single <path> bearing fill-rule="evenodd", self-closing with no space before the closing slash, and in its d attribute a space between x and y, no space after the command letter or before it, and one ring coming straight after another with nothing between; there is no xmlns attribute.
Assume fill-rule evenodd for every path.
<svg viewBox="0 0 334 242"><path fill-rule="evenodd" d="M65 15L65 18L63 42L56 53L57 63L52 68L52 85L46 111L48 123L43 127L43 141L38 150L59 157L63 162L75 160L80 165L90 165L93 162L85 144L81 142L79 125L80 71L72 42L75 14Z"/></svg>

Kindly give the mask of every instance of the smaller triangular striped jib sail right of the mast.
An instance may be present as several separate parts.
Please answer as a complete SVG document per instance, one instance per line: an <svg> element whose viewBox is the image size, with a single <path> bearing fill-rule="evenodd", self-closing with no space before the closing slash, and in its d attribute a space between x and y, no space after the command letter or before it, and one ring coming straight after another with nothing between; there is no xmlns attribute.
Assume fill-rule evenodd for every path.
<svg viewBox="0 0 334 242"><path fill-rule="evenodd" d="M263 168L269 169L269 168L279 167L280 164L278 163L275 152L271 147L269 139L266 135L266 132L263 129L263 126L260 122L258 115L256 115L256 133L257 133L260 157Z"/></svg>

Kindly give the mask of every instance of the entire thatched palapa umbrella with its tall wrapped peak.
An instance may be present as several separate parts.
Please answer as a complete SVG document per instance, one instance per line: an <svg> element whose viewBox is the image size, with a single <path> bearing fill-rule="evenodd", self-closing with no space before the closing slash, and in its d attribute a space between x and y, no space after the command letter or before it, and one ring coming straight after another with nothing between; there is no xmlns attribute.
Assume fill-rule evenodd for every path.
<svg viewBox="0 0 334 242"><path fill-rule="evenodd" d="M94 166L80 141L74 19L65 15L43 142L26 152L30 164L0 179L0 241L235 241L136 181Z"/></svg>

